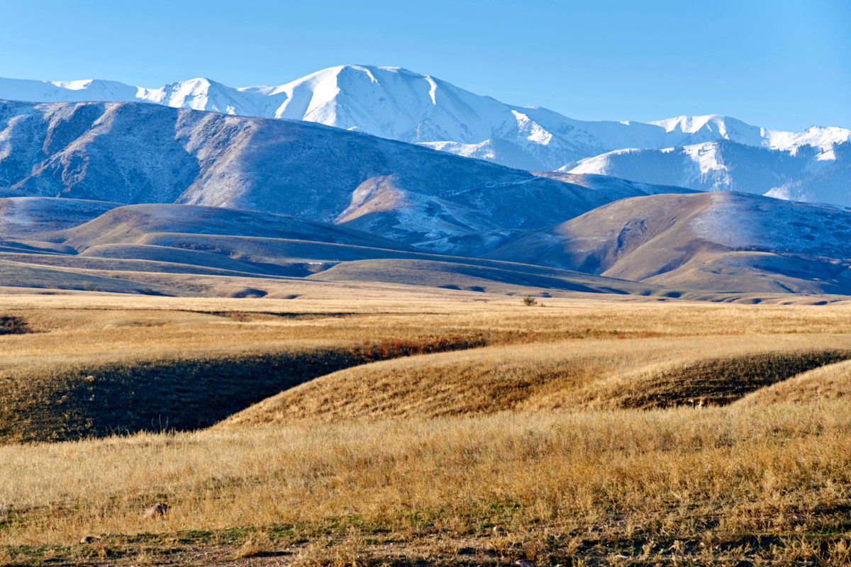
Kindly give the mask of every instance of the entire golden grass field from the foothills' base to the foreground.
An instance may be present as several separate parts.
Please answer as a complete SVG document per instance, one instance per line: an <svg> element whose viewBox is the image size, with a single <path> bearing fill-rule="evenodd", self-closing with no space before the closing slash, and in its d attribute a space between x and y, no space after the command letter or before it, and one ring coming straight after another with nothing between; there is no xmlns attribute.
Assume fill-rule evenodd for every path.
<svg viewBox="0 0 851 567"><path fill-rule="evenodd" d="M0 565L851 561L851 303L7 291Z"/></svg>

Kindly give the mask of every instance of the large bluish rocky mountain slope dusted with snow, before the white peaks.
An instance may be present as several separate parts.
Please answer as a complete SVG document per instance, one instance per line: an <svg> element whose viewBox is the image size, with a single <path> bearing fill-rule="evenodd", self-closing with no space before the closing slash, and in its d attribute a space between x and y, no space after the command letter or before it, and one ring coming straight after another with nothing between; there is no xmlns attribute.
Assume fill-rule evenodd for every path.
<svg viewBox="0 0 851 567"><path fill-rule="evenodd" d="M309 122L20 102L0 103L3 185L29 196L281 213L451 253L623 196L682 190L566 183Z"/></svg>

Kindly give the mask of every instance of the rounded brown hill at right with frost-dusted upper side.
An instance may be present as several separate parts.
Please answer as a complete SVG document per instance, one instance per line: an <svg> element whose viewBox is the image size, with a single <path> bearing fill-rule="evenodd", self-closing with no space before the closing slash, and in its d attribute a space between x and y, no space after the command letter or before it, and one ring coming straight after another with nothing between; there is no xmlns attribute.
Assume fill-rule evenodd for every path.
<svg viewBox="0 0 851 567"><path fill-rule="evenodd" d="M663 286L851 292L851 213L732 192L615 201L486 258Z"/></svg>

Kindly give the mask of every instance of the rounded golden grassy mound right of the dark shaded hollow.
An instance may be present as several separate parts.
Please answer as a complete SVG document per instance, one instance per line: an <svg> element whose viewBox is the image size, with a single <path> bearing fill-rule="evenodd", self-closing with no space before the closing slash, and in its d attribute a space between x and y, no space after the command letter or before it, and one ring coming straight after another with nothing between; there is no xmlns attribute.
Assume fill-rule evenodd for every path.
<svg viewBox="0 0 851 567"><path fill-rule="evenodd" d="M601 338L494 346L334 372L264 400L223 425L719 405L851 358L847 347L848 337L838 335Z"/></svg>

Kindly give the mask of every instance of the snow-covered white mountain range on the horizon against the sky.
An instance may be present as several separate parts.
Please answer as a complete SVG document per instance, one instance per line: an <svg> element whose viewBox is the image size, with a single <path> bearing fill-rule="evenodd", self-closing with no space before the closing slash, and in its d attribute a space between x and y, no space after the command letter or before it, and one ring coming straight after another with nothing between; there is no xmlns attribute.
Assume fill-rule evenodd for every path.
<svg viewBox="0 0 851 567"><path fill-rule="evenodd" d="M340 65L279 86L245 88L204 78L162 88L0 79L0 99L144 101L295 119L520 169L851 205L851 131L845 128L780 132L717 115L586 122L506 105L399 67Z"/></svg>

